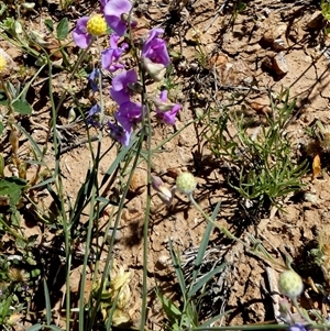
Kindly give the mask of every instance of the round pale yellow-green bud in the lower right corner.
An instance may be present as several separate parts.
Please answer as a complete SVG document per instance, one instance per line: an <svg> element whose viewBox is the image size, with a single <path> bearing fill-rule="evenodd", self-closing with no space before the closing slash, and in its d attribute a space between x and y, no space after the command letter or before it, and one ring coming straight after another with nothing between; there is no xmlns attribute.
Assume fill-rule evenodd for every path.
<svg viewBox="0 0 330 331"><path fill-rule="evenodd" d="M304 289L301 277L294 271L285 271L279 275L278 288L290 299L297 298Z"/></svg>

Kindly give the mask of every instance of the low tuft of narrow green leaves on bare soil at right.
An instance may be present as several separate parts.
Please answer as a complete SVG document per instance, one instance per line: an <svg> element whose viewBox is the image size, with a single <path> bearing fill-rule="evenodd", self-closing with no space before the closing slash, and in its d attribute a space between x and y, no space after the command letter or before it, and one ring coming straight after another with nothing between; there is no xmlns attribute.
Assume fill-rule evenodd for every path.
<svg viewBox="0 0 330 331"><path fill-rule="evenodd" d="M266 114L266 124L254 128L253 133L243 114L231 117L224 111L217 118L211 112L207 117L206 136L215 156L229 165L229 185L261 205L277 203L278 198L304 187L307 164L295 162L294 146L285 133L295 101L289 101L288 91L283 97L271 99L273 114ZM228 131L230 123L237 128L234 134Z"/></svg>

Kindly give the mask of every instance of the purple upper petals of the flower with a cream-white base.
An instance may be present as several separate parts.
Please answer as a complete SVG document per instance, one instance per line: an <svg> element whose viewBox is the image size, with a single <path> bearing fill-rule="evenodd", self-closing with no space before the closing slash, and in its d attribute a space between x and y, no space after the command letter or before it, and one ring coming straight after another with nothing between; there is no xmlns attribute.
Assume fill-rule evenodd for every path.
<svg viewBox="0 0 330 331"><path fill-rule="evenodd" d="M162 64L165 67L169 65L169 56L165 41L158 37L164 33L163 29L154 27L151 30L148 38L142 48L142 57L147 57L153 63Z"/></svg>

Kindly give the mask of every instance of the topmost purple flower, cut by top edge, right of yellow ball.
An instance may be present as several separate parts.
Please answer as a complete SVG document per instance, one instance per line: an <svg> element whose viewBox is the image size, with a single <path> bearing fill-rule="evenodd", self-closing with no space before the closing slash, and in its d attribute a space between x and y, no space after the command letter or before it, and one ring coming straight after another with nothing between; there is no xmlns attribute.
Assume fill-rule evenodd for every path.
<svg viewBox="0 0 330 331"><path fill-rule="evenodd" d="M106 21L119 36L127 32L127 21L123 16L130 12L131 8L129 0L109 0L105 5Z"/></svg>

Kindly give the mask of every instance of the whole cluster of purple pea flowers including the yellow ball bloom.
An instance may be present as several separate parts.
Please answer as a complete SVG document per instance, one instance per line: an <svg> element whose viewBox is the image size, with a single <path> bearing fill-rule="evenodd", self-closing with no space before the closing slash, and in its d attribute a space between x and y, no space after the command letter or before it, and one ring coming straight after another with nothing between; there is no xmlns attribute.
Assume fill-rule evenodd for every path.
<svg viewBox="0 0 330 331"><path fill-rule="evenodd" d="M77 21L73 37L78 47L88 48L97 37L110 31L109 47L101 52L100 66L102 70L116 73L109 93L118 108L107 126L113 139L128 146L132 133L146 114L146 104L142 104L136 96L142 91L138 74L134 68L127 69L121 60L122 55L130 51L130 45L123 37L129 29L134 31L138 22L132 19L130 0L100 0L100 8L103 15L84 16ZM163 33L163 29L152 29L139 51L142 67L154 81L163 80L170 64L166 42L162 38ZM88 77L94 92L99 90L100 75L101 70L96 68ZM168 91L162 90L158 96L147 100L152 101L158 121L174 125L180 106L170 102L167 96ZM88 123L102 128L100 112L101 108L94 106L87 118Z"/></svg>

